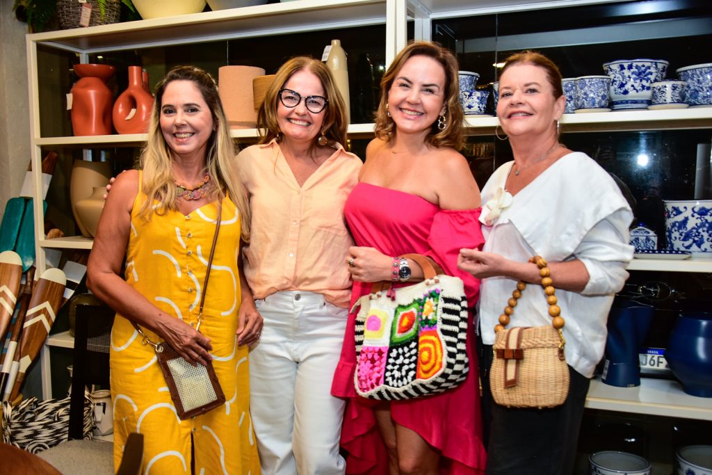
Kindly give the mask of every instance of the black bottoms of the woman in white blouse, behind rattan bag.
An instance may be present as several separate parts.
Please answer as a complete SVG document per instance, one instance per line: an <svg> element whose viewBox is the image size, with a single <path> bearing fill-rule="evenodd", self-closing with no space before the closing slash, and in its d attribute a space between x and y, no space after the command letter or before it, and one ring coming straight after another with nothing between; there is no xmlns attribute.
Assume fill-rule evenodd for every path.
<svg viewBox="0 0 712 475"><path fill-rule="evenodd" d="M481 343L481 342L480 342ZM571 475L586 395L587 377L569 367L569 395L551 409L517 409L492 400L491 345L480 344L482 416L487 475Z"/></svg>

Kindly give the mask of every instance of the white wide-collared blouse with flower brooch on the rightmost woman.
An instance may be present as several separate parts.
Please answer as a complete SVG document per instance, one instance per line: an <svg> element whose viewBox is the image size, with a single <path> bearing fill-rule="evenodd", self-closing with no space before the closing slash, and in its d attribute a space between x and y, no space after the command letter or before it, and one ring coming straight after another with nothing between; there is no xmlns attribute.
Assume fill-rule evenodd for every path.
<svg viewBox="0 0 712 475"><path fill-rule="evenodd" d="M483 250L513 261L538 255L550 262L579 259L586 266L590 278L584 290L557 289L556 296L565 319L566 361L592 377L603 356L614 294L628 278L632 211L614 180L584 153L561 157L511 197L500 190L513 163L499 167L482 189ZM494 326L515 286L503 276L482 281L479 323L486 345L494 343ZM548 308L542 288L530 284L509 328L550 325Z"/></svg>

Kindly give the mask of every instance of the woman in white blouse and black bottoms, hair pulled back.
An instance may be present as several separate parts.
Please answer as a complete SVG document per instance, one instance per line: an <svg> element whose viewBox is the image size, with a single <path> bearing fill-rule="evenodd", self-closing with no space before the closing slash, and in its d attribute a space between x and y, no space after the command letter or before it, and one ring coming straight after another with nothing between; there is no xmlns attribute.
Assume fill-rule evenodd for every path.
<svg viewBox="0 0 712 475"><path fill-rule="evenodd" d="M483 414L491 414L487 474L570 474L590 377L606 342L606 320L633 256L632 212L609 174L559 142L565 110L561 74L545 56L525 51L505 63L497 116L513 162L482 190L482 251L463 249L460 268L483 279L479 328ZM549 263L566 340L570 389L553 409L514 409L491 399L494 327L517 281L540 283L532 256ZM508 328L550 325L543 292L523 293ZM491 412L490 412L491 411Z"/></svg>

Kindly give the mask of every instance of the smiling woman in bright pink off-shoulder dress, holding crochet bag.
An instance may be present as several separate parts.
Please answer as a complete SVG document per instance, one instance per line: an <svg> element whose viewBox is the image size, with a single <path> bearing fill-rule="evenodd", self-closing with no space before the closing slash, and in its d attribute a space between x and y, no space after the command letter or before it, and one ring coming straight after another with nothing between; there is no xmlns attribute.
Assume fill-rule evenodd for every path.
<svg viewBox="0 0 712 475"><path fill-rule="evenodd" d="M403 254L429 256L465 282L473 308L479 282L457 268L463 247L483 244L480 192L462 144L458 65L435 43L410 43L381 82L376 136L360 182L345 205L357 246L345 260L355 281L352 302L373 282L419 281L422 269ZM477 357L468 321L470 372L459 387L413 400L380 402L356 395L355 313L350 315L332 394L347 399L342 448L348 474L481 474Z"/></svg>

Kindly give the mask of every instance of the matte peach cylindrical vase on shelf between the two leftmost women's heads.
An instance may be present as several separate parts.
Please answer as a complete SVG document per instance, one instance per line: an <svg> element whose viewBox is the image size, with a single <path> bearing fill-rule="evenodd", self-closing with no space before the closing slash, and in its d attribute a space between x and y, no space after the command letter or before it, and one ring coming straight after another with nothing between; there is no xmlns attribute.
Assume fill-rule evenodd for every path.
<svg viewBox="0 0 712 475"><path fill-rule="evenodd" d="M265 70L253 66L222 66L218 70L218 92L231 129L257 127L252 82Z"/></svg>

